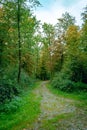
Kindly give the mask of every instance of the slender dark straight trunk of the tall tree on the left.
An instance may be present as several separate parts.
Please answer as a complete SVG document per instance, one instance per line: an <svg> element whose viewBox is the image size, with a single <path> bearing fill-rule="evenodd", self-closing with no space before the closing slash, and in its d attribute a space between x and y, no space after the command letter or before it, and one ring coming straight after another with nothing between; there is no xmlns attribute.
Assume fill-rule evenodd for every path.
<svg viewBox="0 0 87 130"><path fill-rule="evenodd" d="M18 83L20 82L21 76L21 36L20 36L20 0L18 0Z"/></svg>

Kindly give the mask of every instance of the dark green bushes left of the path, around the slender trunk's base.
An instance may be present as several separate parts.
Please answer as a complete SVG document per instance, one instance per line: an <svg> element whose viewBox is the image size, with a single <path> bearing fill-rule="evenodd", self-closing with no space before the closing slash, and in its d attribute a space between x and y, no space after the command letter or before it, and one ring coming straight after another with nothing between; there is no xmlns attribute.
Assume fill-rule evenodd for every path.
<svg viewBox="0 0 87 130"><path fill-rule="evenodd" d="M3 70L2 77L0 77L0 104L11 101L14 96L18 96L25 86L31 86L34 83L34 80L22 70L20 84L18 84L17 74L17 67L8 67Z"/></svg>

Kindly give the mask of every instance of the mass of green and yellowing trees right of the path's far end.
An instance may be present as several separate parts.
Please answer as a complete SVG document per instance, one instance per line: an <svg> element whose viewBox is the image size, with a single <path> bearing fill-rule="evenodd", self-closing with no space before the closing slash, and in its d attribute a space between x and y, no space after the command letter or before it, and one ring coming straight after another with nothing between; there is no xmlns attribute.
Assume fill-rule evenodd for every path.
<svg viewBox="0 0 87 130"><path fill-rule="evenodd" d="M38 77L44 80L54 77L53 85L55 86L64 81L65 84L61 84L61 87L65 87L64 90L68 89L67 86L75 86L76 82L86 83L87 80L86 11L82 13L82 16L84 23L81 29L75 25L75 17L68 12L58 19L55 26L47 23L42 25Z"/></svg>

